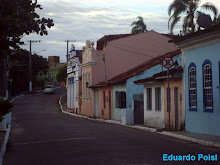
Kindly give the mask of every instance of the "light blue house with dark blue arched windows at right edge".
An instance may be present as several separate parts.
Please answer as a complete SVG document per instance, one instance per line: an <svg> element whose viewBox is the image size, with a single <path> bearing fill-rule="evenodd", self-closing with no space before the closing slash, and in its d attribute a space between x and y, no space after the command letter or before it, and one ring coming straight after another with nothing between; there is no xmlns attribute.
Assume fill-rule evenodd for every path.
<svg viewBox="0 0 220 165"><path fill-rule="evenodd" d="M185 129L220 136L220 27L174 40L184 62Z"/></svg>

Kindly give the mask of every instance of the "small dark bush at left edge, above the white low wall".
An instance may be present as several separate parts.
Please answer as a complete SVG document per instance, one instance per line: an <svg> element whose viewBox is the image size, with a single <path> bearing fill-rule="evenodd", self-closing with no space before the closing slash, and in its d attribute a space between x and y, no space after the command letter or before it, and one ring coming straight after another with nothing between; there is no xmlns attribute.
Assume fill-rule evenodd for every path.
<svg viewBox="0 0 220 165"><path fill-rule="evenodd" d="M12 108L12 102L9 100L0 99L0 121L2 121L3 116L9 113Z"/></svg>

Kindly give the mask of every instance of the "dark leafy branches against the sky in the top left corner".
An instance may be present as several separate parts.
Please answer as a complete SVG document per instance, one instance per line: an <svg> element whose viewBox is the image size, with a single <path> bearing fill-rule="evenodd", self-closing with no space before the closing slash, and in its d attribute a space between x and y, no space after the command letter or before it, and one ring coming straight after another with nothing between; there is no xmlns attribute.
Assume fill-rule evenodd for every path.
<svg viewBox="0 0 220 165"><path fill-rule="evenodd" d="M10 55L9 48L17 49L23 35L47 35L47 27L54 26L52 19L40 18L42 10L37 0L1 0L0 5L0 57Z"/></svg>

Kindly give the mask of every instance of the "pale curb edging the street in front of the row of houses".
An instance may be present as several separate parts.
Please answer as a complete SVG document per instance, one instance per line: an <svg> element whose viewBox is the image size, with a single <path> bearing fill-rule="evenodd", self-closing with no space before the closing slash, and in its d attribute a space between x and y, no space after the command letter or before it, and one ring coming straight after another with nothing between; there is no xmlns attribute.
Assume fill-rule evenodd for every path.
<svg viewBox="0 0 220 165"><path fill-rule="evenodd" d="M66 95L66 94L64 94L64 95ZM217 148L220 148L220 143L217 143L217 142L212 142L212 141L207 141L207 140L201 140L201 139L197 139L197 138L192 138L192 137L175 134L175 133L168 132L168 131L159 132L158 129L156 129L156 128L141 127L141 126L132 126L132 125L124 125L124 124L122 124L122 123L119 122L119 121L104 120L104 119L93 119L93 118L90 118L90 117L87 117L87 116L78 115L78 114L74 114L74 113L70 113L70 112L63 111L62 104L61 104L61 99L62 99L62 97L63 97L64 95L60 96L59 105L60 105L60 107L61 107L62 112L65 113L65 114L68 114L68 115L71 115L71 116L75 116L75 117L85 118L85 119L92 120L92 121L99 121L99 122L105 122L105 123L110 123L110 124L118 124L118 125L122 125L122 126L129 127L129 128L139 129L139 130L143 130L143 131L148 131L148 132L158 133L158 134L165 135L165 136L174 137L174 138L177 138L177 139L182 139L182 140L191 141L191 142L198 143L198 144L205 145L205 146L209 146L209 147L217 147Z"/></svg>

